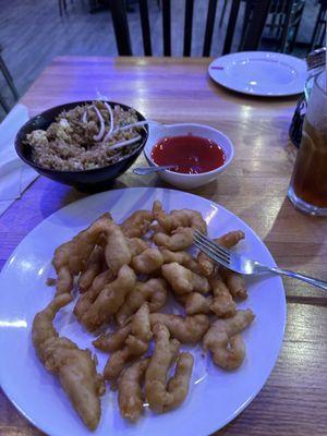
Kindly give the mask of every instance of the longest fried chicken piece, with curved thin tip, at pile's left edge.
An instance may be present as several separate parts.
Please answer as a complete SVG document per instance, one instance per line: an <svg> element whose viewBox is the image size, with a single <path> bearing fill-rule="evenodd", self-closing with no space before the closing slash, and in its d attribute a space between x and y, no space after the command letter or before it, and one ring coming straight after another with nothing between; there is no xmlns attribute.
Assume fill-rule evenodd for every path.
<svg viewBox="0 0 327 436"><path fill-rule="evenodd" d="M35 315L32 339L39 360L57 375L74 409L89 429L95 429L101 414L102 377L96 372L96 359L68 338L59 337L53 327L58 311L70 303L66 293L58 295Z"/></svg>

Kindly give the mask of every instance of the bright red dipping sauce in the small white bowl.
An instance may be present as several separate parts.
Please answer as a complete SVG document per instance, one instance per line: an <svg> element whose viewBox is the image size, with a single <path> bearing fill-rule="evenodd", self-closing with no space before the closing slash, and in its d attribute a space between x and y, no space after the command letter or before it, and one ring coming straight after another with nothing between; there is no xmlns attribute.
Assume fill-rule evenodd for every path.
<svg viewBox="0 0 327 436"><path fill-rule="evenodd" d="M221 167L226 156L221 147L201 136L162 137L152 150L153 160L161 165L175 165L171 171L198 174Z"/></svg>

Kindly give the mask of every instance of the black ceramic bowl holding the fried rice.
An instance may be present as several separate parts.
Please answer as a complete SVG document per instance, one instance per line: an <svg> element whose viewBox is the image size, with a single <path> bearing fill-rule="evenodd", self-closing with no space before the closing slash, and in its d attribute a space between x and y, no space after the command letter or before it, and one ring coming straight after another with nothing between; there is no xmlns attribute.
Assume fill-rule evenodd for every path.
<svg viewBox="0 0 327 436"><path fill-rule="evenodd" d="M111 106L119 105L123 109L131 109L126 105L120 102L108 101ZM37 172L46 175L49 179L56 180L57 182L65 183L77 187L81 191L99 191L104 190L112 183L114 179L123 174L137 159L138 155L143 150L147 136L148 128L142 130L140 140L140 146L131 155L121 159L120 161L109 165L104 168L96 168L90 170L82 171L59 171L48 168L43 168L32 160L32 147L25 144L26 135L34 130L47 130L51 122L55 121L56 117L63 110L70 110L78 105L92 104L92 101L75 101L66 105L56 106L55 108L48 109L45 112L32 118L26 122L19 131L15 138L15 149L17 155L24 162L33 167ZM136 111L138 121L145 121L145 118Z"/></svg>

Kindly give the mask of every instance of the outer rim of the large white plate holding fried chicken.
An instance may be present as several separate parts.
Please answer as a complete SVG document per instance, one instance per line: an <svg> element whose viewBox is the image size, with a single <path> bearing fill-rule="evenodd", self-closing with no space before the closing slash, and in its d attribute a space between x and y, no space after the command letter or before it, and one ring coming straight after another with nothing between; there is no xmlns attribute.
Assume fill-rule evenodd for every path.
<svg viewBox="0 0 327 436"><path fill-rule="evenodd" d="M274 264L274 266L276 266L276 262L270 253L270 251L268 250L268 247L266 246L266 244L262 241L262 239L257 235L257 233L247 225L246 221L244 221L242 218L240 218L238 215L233 214L232 211L230 211L229 209L227 209L225 206L221 206L219 203L216 203L209 198L206 197L202 197L201 195L196 195L190 192L185 192L185 191L180 191L180 190L173 190L173 189L167 189L167 187L155 187L155 186L141 186L141 187L123 187L123 189L114 189L114 190L109 190L109 191L104 191L100 193L96 193L93 195L87 195L83 198L76 199L75 202L72 202L63 207L61 207L60 209L55 210L52 214L50 214L49 216L47 216L45 219L43 219L37 226L35 226L24 238L23 240L17 244L17 246L13 250L13 252L11 253L10 257L7 259L5 264L3 265L1 271L0 271L0 284L1 281L3 280L3 275L5 274L5 271L11 267L11 262L12 258L16 255L16 253L20 250L21 244L23 244L23 242L25 242L25 240L27 238L31 237L31 234L33 234L34 232L36 232L39 227L41 225L45 223L45 221L47 221L48 219L52 218L53 216L56 216L59 211L62 213L64 209L69 209L72 205L78 204L78 203L83 203L86 202L87 199L89 199L90 197L96 197L96 196L105 196L106 194L110 194L112 192L124 192L124 191L131 191L131 190L135 190L135 191L161 191L161 192L178 192L180 194L186 195L186 196L192 196L192 197L196 197L199 198L201 201L204 201L205 203L208 203L209 205L214 205L215 207L217 207L218 209L222 209L225 213L227 213L227 215L231 215L233 217L237 217L239 220L242 221L243 226L249 229L255 237L255 239L257 241L261 242L261 244L263 245L263 247L265 249L265 251L267 252L267 254L269 255L271 263ZM281 318L282 318L282 326L281 326L281 330L280 330L280 342L278 344L278 348L276 350L276 356L274 359L274 362L271 363L271 365L267 368L267 376L265 378L265 380L263 380L262 383L258 384L257 388L252 392L252 395L242 403L242 405L234 410L233 413L231 413L230 415L228 415L225 420L222 420L222 424L217 428L217 427L210 427L209 428L209 433L211 434L213 432L218 432L221 428L223 428L228 423L232 422L254 399L255 397L261 392L261 390L263 389L263 387L266 385L266 383L268 382L272 370L275 368L279 354L280 354L280 350L281 347L283 346L283 339L284 339L284 330L286 330L286 324L287 324L287 299L286 299L286 290L284 290L284 286L282 280L280 279L280 286L281 289L283 290L283 299L282 299L282 314L281 314ZM1 296L0 296L1 299ZM1 340L1 328L0 328L0 340ZM0 342L1 343L1 342ZM13 393L8 392L8 390L10 390L10 388L8 389L8 384L3 383L3 378L5 379L5 377L3 377L2 373L0 372L0 387L2 389L2 392L4 393L5 398L15 407L15 409L29 422L32 423L36 428L40 429L41 432L45 432L46 434L48 434L49 436L61 436L58 433L53 433L51 431L51 428L48 428L47 424L43 424L39 423L39 419L38 417L32 417L31 415L28 415L23 407L21 407L19 404L19 402L16 401L16 399L13 398ZM95 434L96 435L96 431L89 432L89 434Z"/></svg>

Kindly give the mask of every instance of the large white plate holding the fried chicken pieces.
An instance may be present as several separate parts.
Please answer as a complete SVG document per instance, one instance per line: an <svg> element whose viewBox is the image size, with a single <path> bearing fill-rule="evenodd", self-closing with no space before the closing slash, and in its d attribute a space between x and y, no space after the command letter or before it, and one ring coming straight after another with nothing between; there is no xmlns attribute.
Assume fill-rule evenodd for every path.
<svg viewBox="0 0 327 436"><path fill-rule="evenodd" d="M46 218L21 242L0 276L0 382L14 405L49 435L92 434L58 379L37 360L31 341L34 315L53 296L53 288L46 286L46 279L53 277L53 250L106 210L120 222L136 209L149 209L154 199L160 199L167 210L201 210L211 237L232 229L244 230L246 238L239 250L275 265L265 244L240 218L210 201L184 192L153 187L116 190L83 198ZM235 417L261 390L278 356L286 323L281 279L276 276L252 279L249 299L239 306L251 307L256 318L243 334L246 358L238 371L223 372L213 365L209 356L202 355L199 346L191 348L195 366L189 396L179 409L162 415L147 409L136 424L130 424L120 416L117 393L108 389L102 397L101 421L93 434L206 436ZM93 337L77 324L72 307L70 304L60 311L55 326L61 336L94 350ZM97 355L101 371L107 356L98 351Z"/></svg>

